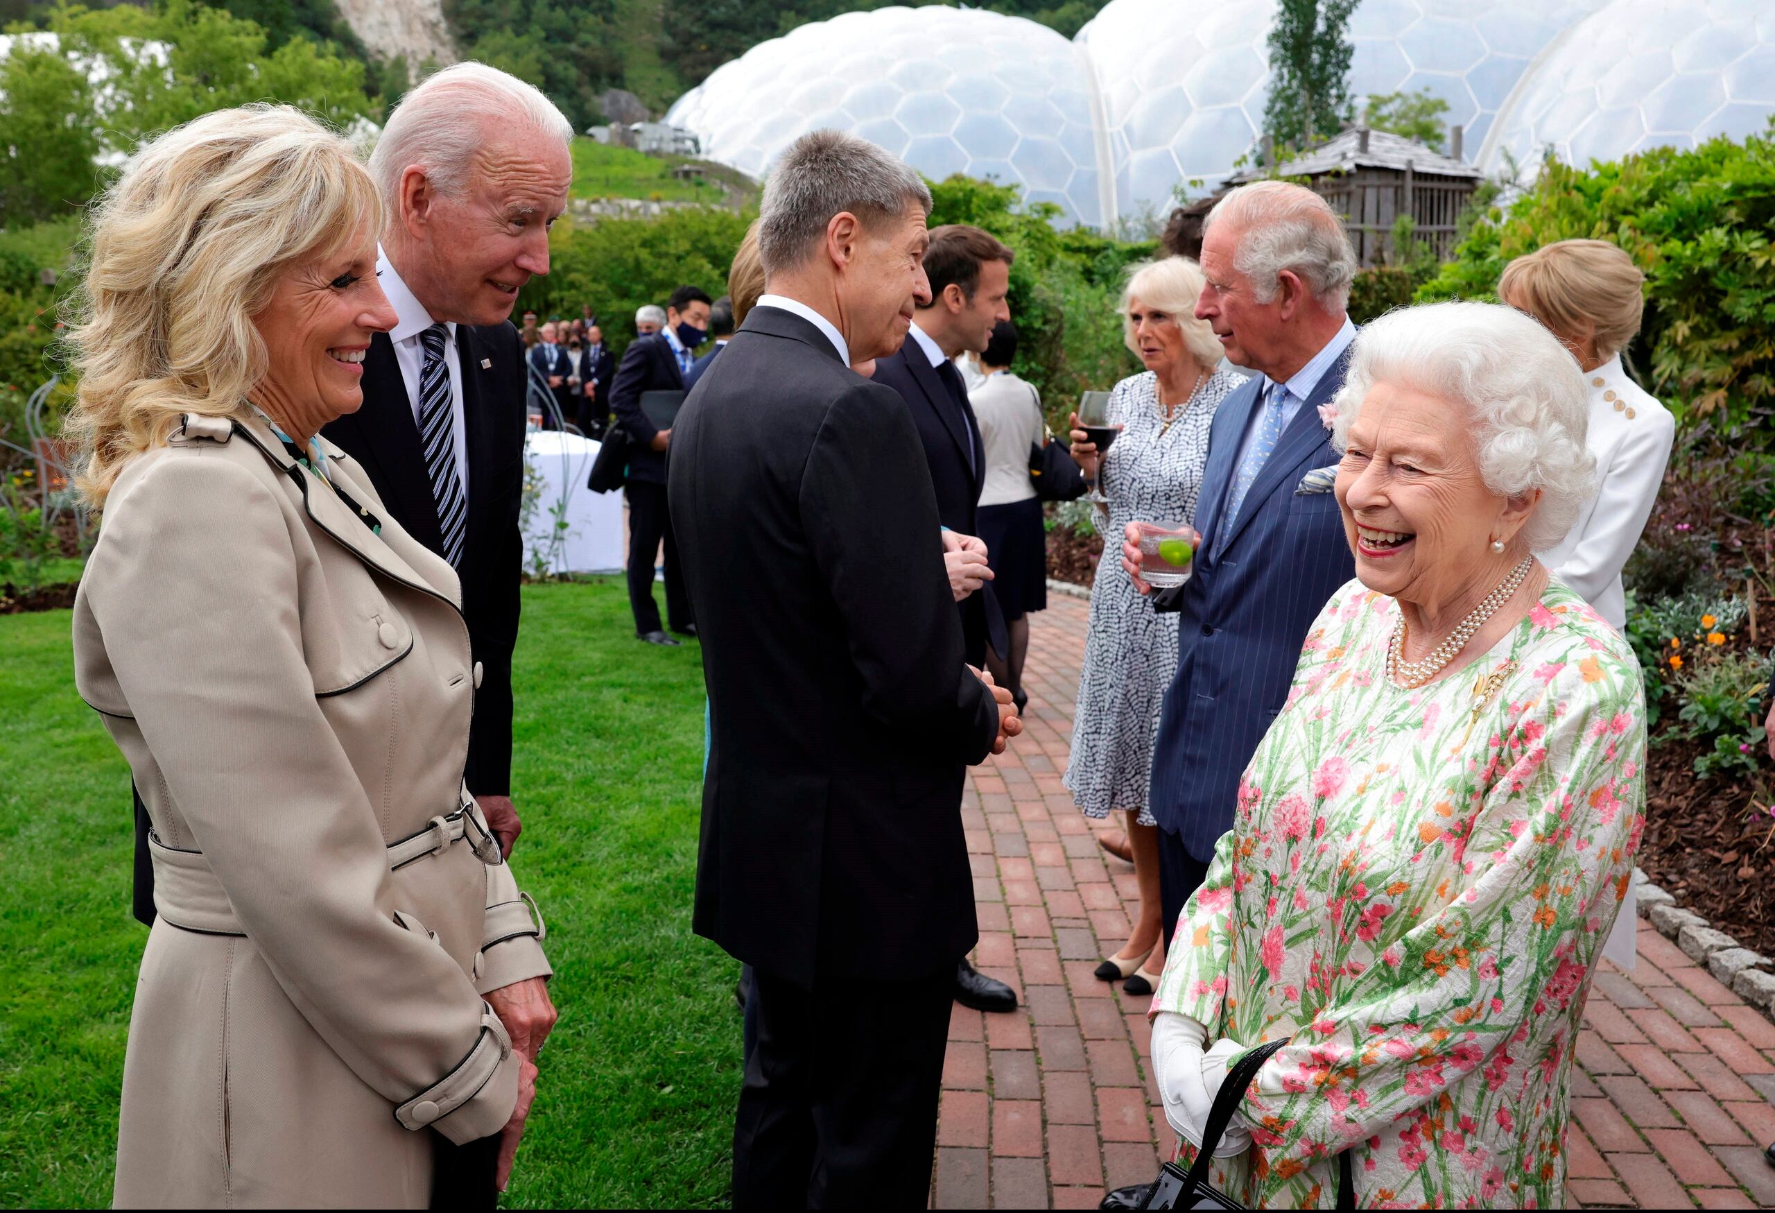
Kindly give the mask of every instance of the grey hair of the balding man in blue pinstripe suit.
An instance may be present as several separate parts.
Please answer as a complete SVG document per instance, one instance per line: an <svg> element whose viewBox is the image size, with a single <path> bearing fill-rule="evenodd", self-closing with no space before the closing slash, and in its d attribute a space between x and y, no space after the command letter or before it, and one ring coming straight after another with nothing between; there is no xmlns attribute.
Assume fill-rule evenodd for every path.
<svg viewBox="0 0 1775 1213"><path fill-rule="evenodd" d="M1214 224L1239 229L1232 263L1251 279L1257 302L1273 302L1282 272L1292 270L1328 311L1340 313L1349 304L1356 250L1344 220L1306 186L1290 181L1241 185L1214 204L1202 231Z"/></svg>

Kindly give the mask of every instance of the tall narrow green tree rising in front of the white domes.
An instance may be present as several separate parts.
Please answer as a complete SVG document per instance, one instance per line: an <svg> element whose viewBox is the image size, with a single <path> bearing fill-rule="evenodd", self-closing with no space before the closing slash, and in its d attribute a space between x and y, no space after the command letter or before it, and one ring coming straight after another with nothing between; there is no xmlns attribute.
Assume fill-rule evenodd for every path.
<svg viewBox="0 0 1775 1213"><path fill-rule="evenodd" d="M1276 144L1308 147L1349 121L1349 14L1358 0L1280 0L1269 30L1264 130Z"/></svg>

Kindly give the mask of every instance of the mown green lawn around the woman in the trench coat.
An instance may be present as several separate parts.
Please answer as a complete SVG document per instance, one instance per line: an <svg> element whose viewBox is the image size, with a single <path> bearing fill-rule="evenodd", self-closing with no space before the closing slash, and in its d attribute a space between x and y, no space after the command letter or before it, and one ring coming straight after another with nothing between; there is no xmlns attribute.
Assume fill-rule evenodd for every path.
<svg viewBox="0 0 1775 1213"><path fill-rule="evenodd" d="M67 611L0 618L0 1206L106 1206L130 995L130 781L75 696ZM529 586L513 783L520 883L561 1025L511 1206L724 1204L738 966L690 934L694 645L634 639L616 579Z"/></svg>

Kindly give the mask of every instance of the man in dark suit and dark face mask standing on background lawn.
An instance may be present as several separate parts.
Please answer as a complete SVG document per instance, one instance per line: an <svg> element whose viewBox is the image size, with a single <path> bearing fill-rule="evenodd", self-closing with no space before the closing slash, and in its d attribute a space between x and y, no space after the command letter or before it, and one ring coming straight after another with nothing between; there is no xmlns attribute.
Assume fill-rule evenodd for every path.
<svg viewBox="0 0 1775 1213"><path fill-rule="evenodd" d="M666 327L635 337L616 364L611 408L628 432L628 609L635 636L650 645L676 645L660 627L653 600L653 556L666 543L666 620L680 636L696 636L690 600L683 593L678 540L666 510L666 449L671 428L660 430L641 410L641 392L683 391L694 350L708 332L708 295L680 286L666 304Z"/></svg>

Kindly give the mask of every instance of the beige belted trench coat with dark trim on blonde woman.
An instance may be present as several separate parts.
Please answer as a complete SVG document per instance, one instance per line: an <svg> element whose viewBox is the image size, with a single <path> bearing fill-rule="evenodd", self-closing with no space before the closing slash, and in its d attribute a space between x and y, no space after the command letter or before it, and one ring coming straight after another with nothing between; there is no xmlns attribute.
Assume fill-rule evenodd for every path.
<svg viewBox="0 0 1775 1213"><path fill-rule="evenodd" d="M481 995L548 963L462 785L456 574L327 451L367 515L257 417L186 419L80 583L76 680L153 817L160 911L119 1208L422 1208L424 1128L486 1137L517 1099Z"/></svg>

